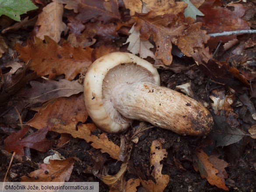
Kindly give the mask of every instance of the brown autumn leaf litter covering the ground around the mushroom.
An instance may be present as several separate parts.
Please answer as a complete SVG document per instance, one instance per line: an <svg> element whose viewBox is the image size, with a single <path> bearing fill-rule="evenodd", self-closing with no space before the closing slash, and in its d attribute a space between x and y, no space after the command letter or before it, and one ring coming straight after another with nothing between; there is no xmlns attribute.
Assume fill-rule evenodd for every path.
<svg viewBox="0 0 256 192"><path fill-rule="evenodd" d="M7 15L21 22L0 17L0 153L18 161L8 180L98 181L112 192L255 190L256 36L208 35L255 29L248 1L33 1L22 13L39 9ZM115 51L154 63L163 86L189 84L214 116L211 133L179 136L141 122L122 136L102 133L82 82L95 59ZM50 148L66 159L40 164Z"/></svg>

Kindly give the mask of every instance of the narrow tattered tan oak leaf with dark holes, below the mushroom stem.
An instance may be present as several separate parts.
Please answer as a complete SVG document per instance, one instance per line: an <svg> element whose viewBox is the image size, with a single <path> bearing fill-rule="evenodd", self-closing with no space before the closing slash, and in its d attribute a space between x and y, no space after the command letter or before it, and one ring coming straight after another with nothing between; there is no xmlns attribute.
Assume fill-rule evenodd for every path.
<svg viewBox="0 0 256 192"><path fill-rule="evenodd" d="M163 165L160 162L167 157L167 152L162 148L159 140L154 140L150 147L150 154L150 165L153 170L151 175L154 177L155 182L141 180L141 184L148 192L163 192L169 182L169 176L162 175Z"/></svg>

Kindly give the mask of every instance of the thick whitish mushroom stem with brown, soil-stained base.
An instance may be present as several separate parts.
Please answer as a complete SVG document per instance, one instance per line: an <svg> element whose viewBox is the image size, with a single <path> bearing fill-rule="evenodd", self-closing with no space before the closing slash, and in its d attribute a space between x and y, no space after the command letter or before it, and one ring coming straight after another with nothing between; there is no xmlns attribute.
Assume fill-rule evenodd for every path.
<svg viewBox="0 0 256 192"><path fill-rule="evenodd" d="M112 102L128 119L147 121L182 135L204 135L213 126L210 112L199 102L153 83L119 84L112 90Z"/></svg>

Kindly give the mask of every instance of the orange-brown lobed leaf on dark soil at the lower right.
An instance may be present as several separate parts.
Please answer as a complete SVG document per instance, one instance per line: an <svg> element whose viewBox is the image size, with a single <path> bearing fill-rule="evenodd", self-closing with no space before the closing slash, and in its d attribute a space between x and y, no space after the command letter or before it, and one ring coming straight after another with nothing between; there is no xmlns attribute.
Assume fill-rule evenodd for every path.
<svg viewBox="0 0 256 192"><path fill-rule="evenodd" d="M224 160L209 157L203 150L198 150L194 156L193 167L196 171L200 171L201 177L206 178L211 185L216 185L225 191L228 191L224 181L224 178L227 177L224 168L227 165L228 163Z"/></svg>

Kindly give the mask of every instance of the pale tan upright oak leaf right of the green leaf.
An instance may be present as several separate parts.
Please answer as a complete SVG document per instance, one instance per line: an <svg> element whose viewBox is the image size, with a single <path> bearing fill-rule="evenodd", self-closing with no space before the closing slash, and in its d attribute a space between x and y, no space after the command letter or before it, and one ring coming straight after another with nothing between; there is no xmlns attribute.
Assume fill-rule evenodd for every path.
<svg viewBox="0 0 256 192"><path fill-rule="evenodd" d="M38 20L35 25L40 27L39 30L36 30L36 36L43 40L44 36L47 35L54 41L59 42L62 31L67 32L67 26L63 23L62 17L63 4L53 0L53 2L44 7L42 13L38 15Z"/></svg>

